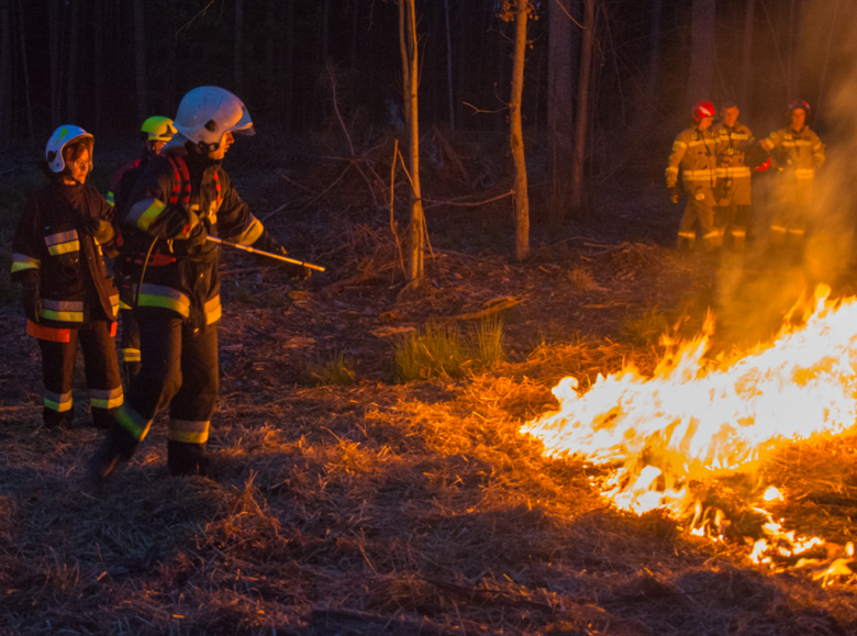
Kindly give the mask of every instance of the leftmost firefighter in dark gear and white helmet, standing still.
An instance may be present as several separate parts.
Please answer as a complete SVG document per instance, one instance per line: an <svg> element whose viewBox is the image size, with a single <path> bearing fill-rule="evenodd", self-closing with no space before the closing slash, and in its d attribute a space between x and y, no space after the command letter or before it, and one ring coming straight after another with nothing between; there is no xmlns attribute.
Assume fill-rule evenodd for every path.
<svg viewBox="0 0 857 636"><path fill-rule="evenodd" d="M84 185L92 169L92 135L78 126L54 131L45 148L51 182L27 200L12 243L26 333L42 350L42 417L48 428L74 420L78 342L93 424L109 427L123 399L113 341L119 291L104 265L105 254L116 254L113 210Z"/></svg>

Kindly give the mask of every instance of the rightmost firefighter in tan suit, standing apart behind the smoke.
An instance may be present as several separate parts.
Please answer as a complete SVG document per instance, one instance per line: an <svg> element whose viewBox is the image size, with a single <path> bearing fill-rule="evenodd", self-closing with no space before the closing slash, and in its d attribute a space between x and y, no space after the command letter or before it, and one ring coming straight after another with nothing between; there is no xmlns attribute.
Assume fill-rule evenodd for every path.
<svg viewBox="0 0 857 636"><path fill-rule="evenodd" d="M824 144L808 125L810 104L789 104L788 127L772 132L760 145L777 167L777 205L770 224L775 246L803 245L815 170L824 165Z"/></svg>

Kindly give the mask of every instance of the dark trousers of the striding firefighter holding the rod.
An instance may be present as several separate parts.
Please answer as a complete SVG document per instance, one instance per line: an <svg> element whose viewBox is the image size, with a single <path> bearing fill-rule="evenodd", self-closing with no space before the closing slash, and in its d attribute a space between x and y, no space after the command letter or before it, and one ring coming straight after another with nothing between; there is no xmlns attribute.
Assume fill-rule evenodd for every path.
<svg viewBox="0 0 857 636"><path fill-rule="evenodd" d="M169 405L167 466L172 475L204 472L205 446L218 399L218 326L194 328L167 309L137 308L141 368L116 414L138 443Z"/></svg>

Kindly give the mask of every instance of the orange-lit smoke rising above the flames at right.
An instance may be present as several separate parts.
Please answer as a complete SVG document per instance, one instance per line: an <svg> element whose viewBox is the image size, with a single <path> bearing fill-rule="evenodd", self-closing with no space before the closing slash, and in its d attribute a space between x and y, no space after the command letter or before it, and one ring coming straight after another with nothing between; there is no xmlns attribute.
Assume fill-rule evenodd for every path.
<svg viewBox="0 0 857 636"><path fill-rule="evenodd" d="M769 224L777 211L782 175L754 174L755 241L743 258L725 255L717 274L717 332L730 342L767 341L782 317L819 283L834 294L857 293L855 211L857 211L857 10L850 0L813 2L801 30L800 88L792 99L810 101L809 123L826 146L826 161L815 171L809 232L802 254L777 254ZM783 78L786 80L787 78ZM813 103L814 102L814 103ZM777 118L771 116L778 114ZM788 125L787 108L760 120ZM770 130L753 130L765 138ZM748 341L753 341L748 343Z"/></svg>

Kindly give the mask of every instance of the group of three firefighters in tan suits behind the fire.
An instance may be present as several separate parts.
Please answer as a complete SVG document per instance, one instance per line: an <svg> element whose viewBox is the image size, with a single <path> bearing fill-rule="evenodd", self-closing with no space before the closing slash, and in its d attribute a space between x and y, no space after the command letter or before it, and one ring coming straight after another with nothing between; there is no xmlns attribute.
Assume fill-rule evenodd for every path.
<svg viewBox="0 0 857 636"><path fill-rule="evenodd" d="M678 177L688 196L678 232L679 249L690 249L701 235L705 248L724 246L743 252L750 222L752 171L777 169L776 204L770 220L770 244L799 253L810 221L815 170L824 164L824 144L810 130L810 104L789 104L788 126L757 142L738 122L735 102L723 104L721 122L710 101L698 102L693 125L672 143L667 165L667 189L678 203ZM725 239L725 241L724 241Z"/></svg>

